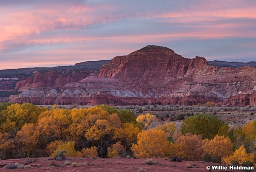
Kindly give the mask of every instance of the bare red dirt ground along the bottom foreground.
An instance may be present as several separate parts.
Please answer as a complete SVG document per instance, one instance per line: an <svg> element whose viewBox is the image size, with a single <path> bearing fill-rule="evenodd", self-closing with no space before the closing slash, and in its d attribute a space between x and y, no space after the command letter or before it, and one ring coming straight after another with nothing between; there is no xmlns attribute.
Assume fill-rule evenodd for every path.
<svg viewBox="0 0 256 172"><path fill-rule="evenodd" d="M63 166L57 167L58 164L64 164L65 161L48 160L48 158L38 158L36 162L26 164L24 169L5 169L0 168L1 171L8 172L207 172L206 166L223 164L215 163L201 163L199 161L182 161L182 162L170 162L169 159L153 158L153 161L160 162L161 165L145 165L142 164L146 159L123 159L123 158L97 158L91 165L84 166ZM56 167L47 167L51 161L55 161ZM76 162L84 163L85 158L67 158L67 161L71 163ZM25 159L9 159L0 161L0 164L23 164ZM41 166L35 166L27 168L28 165L41 164ZM192 168L187 168L187 164L193 164ZM228 167L229 169L229 167ZM214 172L231 172L232 170L211 170ZM240 170L233 170L234 172L240 172Z"/></svg>

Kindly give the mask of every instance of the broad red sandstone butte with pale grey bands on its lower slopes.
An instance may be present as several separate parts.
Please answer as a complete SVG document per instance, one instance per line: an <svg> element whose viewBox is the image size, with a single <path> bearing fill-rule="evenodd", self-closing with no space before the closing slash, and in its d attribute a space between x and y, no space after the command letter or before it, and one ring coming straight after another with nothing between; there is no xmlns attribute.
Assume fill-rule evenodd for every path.
<svg viewBox="0 0 256 172"><path fill-rule="evenodd" d="M256 67L215 67L148 45L116 56L99 72L40 71L17 82L10 102L59 105L256 105Z"/></svg>

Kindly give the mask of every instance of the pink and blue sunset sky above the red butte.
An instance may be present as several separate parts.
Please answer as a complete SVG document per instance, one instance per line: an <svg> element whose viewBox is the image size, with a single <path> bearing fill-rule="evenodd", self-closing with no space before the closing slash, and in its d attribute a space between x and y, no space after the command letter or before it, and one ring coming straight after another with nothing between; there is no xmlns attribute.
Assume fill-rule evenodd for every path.
<svg viewBox="0 0 256 172"><path fill-rule="evenodd" d="M0 69L113 59L146 45L256 61L256 0L0 0Z"/></svg>

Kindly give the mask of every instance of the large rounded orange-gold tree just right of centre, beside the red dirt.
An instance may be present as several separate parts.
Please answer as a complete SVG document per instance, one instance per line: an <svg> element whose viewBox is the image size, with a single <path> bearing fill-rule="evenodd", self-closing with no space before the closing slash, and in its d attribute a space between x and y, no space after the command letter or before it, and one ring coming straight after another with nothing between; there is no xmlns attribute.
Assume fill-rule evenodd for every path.
<svg viewBox="0 0 256 172"><path fill-rule="evenodd" d="M165 157L169 149L167 135L162 130L143 130L137 136L138 144L133 144L131 150L136 158Z"/></svg>

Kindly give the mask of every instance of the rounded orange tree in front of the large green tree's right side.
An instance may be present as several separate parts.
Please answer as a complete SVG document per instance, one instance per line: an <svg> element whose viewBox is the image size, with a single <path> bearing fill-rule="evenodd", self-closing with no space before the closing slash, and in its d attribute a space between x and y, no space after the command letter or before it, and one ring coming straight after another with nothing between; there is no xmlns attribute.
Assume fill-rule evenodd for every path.
<svg viewBox="0 0 256 172"><path fill-rule="evenodd" d="M232 155L233 144L229 138L224 136L216 135L213 139L205 139L203 141L202 148L204 153L220 156L221 158L226 158Z"/></svg>

